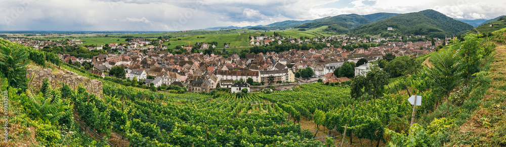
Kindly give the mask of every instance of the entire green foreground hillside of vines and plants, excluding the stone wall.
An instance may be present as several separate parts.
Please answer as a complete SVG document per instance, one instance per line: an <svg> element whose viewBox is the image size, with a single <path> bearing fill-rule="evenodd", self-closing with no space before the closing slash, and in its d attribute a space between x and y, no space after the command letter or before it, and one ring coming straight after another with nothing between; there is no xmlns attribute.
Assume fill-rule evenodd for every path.
<svg viewBox="0 0 506 147"><path fill-rule="evenodd" d="M434 67L413 67L399 78L372 68L350 85L240 94L124 86L54 53L0 40L0 69L14 67L0 74L8 98L0 123L8 124L11 139L0 146L504 146L504 46L494 50L504 29L494 33L471 34L430 58L413 58ZM99 80L103 94L63 83L53 89L48 80L38 93L26 90L19 67L30 61ZM414 113L411 95L423 98Z"/></svg>

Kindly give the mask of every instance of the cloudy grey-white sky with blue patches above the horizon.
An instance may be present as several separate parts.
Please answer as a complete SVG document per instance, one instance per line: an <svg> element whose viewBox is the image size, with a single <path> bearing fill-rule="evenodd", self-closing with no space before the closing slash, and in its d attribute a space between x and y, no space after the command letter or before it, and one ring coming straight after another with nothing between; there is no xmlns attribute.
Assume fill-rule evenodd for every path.
<svg viewBox="0 0 506 147"><path fill-rule="evenodd" d="M0 31L180 31L427 9L463 19L506 15L503 0L2 0L0 3Z"/></svg>

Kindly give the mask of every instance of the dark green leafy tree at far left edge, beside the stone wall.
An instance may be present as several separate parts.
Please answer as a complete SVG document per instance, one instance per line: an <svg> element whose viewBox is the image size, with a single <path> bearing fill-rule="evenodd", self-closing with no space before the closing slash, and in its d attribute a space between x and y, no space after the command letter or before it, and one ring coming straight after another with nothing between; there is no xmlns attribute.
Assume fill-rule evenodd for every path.
<svg viewBox="0 0 506 147"><path fill-rule="evenodd" d="M27 47L0 40L0 48L0 77L7 78L11 87L26 89Z"/></svg>

